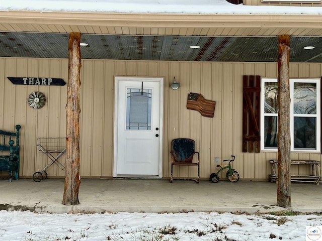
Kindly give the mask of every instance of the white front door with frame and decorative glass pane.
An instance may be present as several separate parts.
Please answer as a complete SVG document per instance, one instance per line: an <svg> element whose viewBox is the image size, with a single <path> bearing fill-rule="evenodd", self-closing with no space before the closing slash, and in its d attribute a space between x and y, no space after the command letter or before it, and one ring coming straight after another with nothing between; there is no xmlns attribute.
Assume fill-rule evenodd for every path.
<svg viewBox="0 0 322 241"><path fill-rule="evenodd" d="M162 177L163 78L115 77L114 177Z"/></svg>

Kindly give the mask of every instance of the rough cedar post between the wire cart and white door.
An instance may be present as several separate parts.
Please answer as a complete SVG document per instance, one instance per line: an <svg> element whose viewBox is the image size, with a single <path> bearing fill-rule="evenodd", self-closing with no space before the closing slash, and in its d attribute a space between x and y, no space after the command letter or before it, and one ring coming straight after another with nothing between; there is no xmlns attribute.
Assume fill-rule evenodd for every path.
<svg viewBox="0 0 322 241"><path fill-rule="evenodd" d="M79 204L78 191L81 184L79 175L79 87L81 80L81 33L70 33L68 41L68 84L67 84L67 132L65 189L62 204Z"/></svg>

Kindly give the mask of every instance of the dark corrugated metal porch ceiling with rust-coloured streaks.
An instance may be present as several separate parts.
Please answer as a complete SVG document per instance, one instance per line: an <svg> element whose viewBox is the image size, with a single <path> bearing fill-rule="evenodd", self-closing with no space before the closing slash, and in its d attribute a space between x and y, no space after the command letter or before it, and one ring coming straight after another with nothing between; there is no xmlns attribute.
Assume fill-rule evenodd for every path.
<svg viewBox="0 0 322 241"><path fill-rule="evenodd" d="M1 32L1 57L68 58L68 34ZM83 59L276 62L278 37L82 34ZM290 37L290 62L322 62L321 37ZM189 46L198 45L199 49ZM314 46L312 50L304 46Z"/></svg>

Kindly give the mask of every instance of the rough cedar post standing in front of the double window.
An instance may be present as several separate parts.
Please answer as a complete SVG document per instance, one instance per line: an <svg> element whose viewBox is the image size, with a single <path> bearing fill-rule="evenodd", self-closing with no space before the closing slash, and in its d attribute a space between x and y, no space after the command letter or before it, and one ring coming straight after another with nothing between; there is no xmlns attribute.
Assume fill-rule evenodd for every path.
<svg viewBox="0 0 322 241"><path fill-rule="evenodd" d="M291 206L291 136L290 136L290 81L289 35L279 36L278 45L278 188L277 205Z"/></svg>

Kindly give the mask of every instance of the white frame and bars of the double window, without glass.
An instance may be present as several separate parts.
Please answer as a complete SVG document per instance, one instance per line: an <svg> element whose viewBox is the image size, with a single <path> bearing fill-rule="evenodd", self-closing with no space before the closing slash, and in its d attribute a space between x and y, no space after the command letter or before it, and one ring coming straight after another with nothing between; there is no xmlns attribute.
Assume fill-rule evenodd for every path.
<svg viewBox="0 0 322 241"><path fill-rule="evenodd" d="M278 113L264 113L264 103L265 103L265 82L277 82L277 78L262 78L261 81L261 151L277 151L277 148L268 148L265 147L265 116L278 116ZM293 97L294 96L294 82L306 82L306 83L315 83L316 84L316 113L315 114L294 114L293 112ZM320 143L320 123L321 123L321 115L320 115L320 79L290 79L290 96L291 96L291 104L290 104L290 134L291 134L291 151L292 152L320 152L321 143ZM294 116L311 116L316 117L316 149L294 149Z"/></svg>

